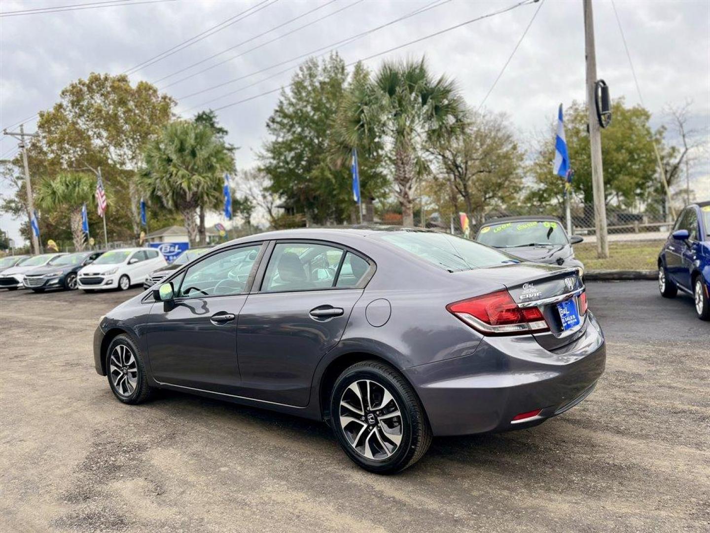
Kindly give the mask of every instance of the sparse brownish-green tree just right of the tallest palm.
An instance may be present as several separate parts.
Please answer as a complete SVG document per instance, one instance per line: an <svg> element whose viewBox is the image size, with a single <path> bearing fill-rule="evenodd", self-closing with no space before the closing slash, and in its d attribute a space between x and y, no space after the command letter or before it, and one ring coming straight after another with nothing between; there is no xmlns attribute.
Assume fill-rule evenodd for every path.
<svg viewBox="0 0 710 533"><path fill-rule="evenodd" d="M435 185L444 185L449 198L460 198L472 221L482 222L487 210L520 193L524 154L505 114L473 114L463 134L430 151L439 169Z"/></svg>

